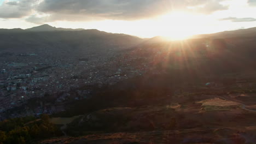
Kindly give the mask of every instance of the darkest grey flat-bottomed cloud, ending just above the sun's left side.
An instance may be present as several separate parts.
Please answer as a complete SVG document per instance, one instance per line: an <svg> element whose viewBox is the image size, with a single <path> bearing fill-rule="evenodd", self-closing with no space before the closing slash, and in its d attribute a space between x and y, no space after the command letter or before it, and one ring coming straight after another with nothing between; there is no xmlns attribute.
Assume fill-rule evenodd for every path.
<svg viewBox="0 0 256 144"><path fill-rule="evenodd" d="M166 7L167 5L170 5L170 2L166 0L45 0L39 5L38 10L53 15L66 14L66 19L71 19L72 15L79 15L82 20L88 17L132 20L165 13L172 9Z"/></svg>

